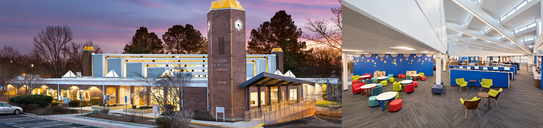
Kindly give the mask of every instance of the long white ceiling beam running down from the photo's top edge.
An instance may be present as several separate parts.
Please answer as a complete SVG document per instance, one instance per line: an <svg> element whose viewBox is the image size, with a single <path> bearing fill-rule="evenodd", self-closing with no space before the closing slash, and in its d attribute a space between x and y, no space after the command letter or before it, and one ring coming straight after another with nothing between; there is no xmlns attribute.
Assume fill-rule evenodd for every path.
<svg viewBox="0 0 543 128"><path fill-rule="evenodd" d="M502 24L498 23L493 17L488 15L487 12L483 11L483 9L478 7L472 1L470 0L451 0L451 1L458 4L460 7L464 8L466 11L470 12L475 17L479 18L479 20L483 21L483 23L489 25L491 28L495 29L498 33L504 35L510 41L513 41L516 46L519 46L522 49L522 53L532 54L532 49L528 48L528 46L526 46L526 44L524 44L523 42L520 42L519 39L517 39L515 35L511 34L509 30L503 27Z"/></svg>

